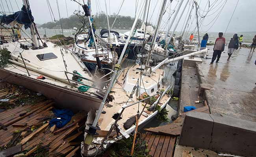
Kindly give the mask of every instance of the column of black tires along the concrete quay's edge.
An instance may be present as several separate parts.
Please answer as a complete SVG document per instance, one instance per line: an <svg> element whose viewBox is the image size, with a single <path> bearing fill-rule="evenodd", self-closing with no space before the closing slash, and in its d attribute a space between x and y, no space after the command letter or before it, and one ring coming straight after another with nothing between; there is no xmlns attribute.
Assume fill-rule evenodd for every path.
<svg viewBox="0 0 256 157"><path fill-rule="evenodd" d="M180 97L181 69L182 69L182 60L178 60L177 69L173 73L173 76L175 76L173 97Z"/></svg>

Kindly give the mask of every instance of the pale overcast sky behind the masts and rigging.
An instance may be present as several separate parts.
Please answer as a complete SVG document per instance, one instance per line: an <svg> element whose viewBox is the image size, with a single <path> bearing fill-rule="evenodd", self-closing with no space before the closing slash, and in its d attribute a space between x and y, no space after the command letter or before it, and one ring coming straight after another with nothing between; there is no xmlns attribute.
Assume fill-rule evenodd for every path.
<svg viewBox="0 0 256 157"><path fill-rule="evenodd" d="M16 0L19 8L22 6L22 0ZM50 5L52 7L52 10L54 12L54 16L57 19L59 19L58 15L58 9L57 9L57 3L56 0L49 0ZM77 0L82 3L82 0ZM87 0L84 0L87 2ZM106 0L108 4L108 12L109 12L109 2L110 2L110 13L117 13L117 10L119 8L119 5L121 4L122 0ZM122 10L120 11L119 15L125 15L125 16L135 16L135 4L139 1L139 4L142 0L124 0L124 4L122 6ZM149 1L149 0L148 0ZM179 0L181 1L181 0ZM192 0L189 0L192 1ZM197 0L198 4L200 6L200 15L204 15L206 11L208 11L208 1L209 0ZM224 32L228 22L230 20L230 17L234 11L234 8L236 6L237 0L227 0L226 5L224 6L222 12L220 13L219 17L217 18L218 13L221 11L221 8L224 4L225 0L210 0L210 6L213 5L214 2L216 4L213 6L211 11L207 14L208 16L205 17L204 22L202 23L200 27L200 31L208 31L209 32ZM13 8L14 11L18 11L17 4L15 3L15 0L7 0L8 7L6 5L5 1L2 1L5 11L8 11L8 7L10 10ZM10 5L10 3L12 5ZM48 6L46 3L46 0L29 0L31 9L32 9L32 15L35 18L35 22L38 24L43 24L45 22L51 21L50 13L48 10ZM60 16L61 17L67 17L68 15L72 15L74 10L82 9L81 7L78 7L78 4L72 0L66 0L67 2L67 9L65 5L65 0L58 0L59 2L59 10L60 10ZM96 3L97 2L97 3ZM149 9L149 16L148 19L152 16L150 22L153 24L156 24L156 20L158 18L158 13L160 10L162 0L151 0L150 2L150 9ZM179 11L178 17L181 15L181 12L184 8L184 5L186 4L187 0L184 0L184 3L182 4L182 7ZM105 8L105 0L91 0L91 7L93 14L96 14L97 11L104 11L106 12ZM167 18L169 16L170 8L173 10L176 6L178 0L173 0L172 4L170 5L170 0L167 0L167 11L165 15L163 16L163 21L161 24L161 29L164 29L164 27L167 27L167 24L164 22L167 22ZM190 3L191 4L191 3ZM217 5L219 4L219 5ZM2 5L2 4L1 4ZM180 23L177 27L177 31L180 31L182 29L182 26L184 24L185 16L187 12L190 9L190 5L187 5L186 10L184 11L184 14L180 20ZM204 9L206 8L206 9ZM236 11L234 13L234 16L230 22L230 25L228 27L227 32L245 32L245 31L256 31L256 20L255 20L255 8L256 8L256 0L239 0L239 3L237 5ZM1 9L1 8L0 8ZM155 10L154 10L155 9ZM2 9L1 9L2 10ZM178 18L176 18L178 19ZM200 17L199 17L200 19ZM217 19L215 21L215 19ZM177 21L177 20L176 20ZM175 22L176 22L175 21ZM212 21L212 22L211 22ZM191 22L193 24L191 24ZM190 30L192 31L195 29L195 8L192 11L192 17L191 21L189 22L189 25L191 25ZM165 28L166 29L166 28Z"/></svg>

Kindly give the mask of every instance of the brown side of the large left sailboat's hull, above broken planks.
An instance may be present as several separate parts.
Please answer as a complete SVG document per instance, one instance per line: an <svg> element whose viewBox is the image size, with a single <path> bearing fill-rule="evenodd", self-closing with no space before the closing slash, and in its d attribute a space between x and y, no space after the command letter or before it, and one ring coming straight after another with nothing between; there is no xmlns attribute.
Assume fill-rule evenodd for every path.
<svg viewBox="0 0 256 157"><path fill-rule="evenodd" d="M23 86L32 91L39 92L47 98L54 99L57 102L58 107L69 108L72 111L89 111L90 109L98 110L100 102L102 101L96 95L89 95L78 92L77 90L33 79L3 68L0 68L0 78L8 83Z"/></svg>

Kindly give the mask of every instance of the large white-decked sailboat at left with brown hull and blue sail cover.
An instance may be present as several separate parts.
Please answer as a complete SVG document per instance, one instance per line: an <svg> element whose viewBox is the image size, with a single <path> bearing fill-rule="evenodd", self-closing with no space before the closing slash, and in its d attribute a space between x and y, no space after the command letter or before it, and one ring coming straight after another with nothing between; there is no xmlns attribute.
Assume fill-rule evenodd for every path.
<svg viewBox="0 0 256 157"><path fill-rule="evenodd" d="M91 75L72 51L38 40L28 0L23 3L22 11L15 14L19 17L12 23L26 23L32 40L16 40L2 45L2 49L11 53L9 64L0 68L0 78L52 98L60 107L75 111L98 110L106 91L101 78ZM20 16L26 17L24 21ZM8 18L3 16L1 22L9 24Z"/></svg>

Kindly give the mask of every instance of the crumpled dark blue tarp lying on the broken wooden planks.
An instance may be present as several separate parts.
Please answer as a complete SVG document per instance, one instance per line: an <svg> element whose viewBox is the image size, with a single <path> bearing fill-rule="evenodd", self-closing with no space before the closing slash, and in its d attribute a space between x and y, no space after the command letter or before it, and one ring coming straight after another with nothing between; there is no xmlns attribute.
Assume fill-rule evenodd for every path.
<svg viewBox="0 0 256 157"><path fill-rule="evenodd" d="M71 117L73 116L72 111L63 109L63 110L53 110L54 115L56 115L57 118L51 119L49 122L49 126L52 127L54 124L58 127L61 128L65 126L70 120Z"/></svg>

